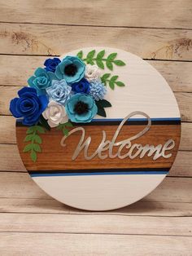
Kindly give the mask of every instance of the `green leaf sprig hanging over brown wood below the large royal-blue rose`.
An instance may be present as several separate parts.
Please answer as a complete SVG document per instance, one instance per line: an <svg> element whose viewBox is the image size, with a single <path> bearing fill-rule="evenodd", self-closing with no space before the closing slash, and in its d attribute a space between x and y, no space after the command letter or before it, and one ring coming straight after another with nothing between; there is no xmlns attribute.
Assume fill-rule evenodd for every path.
<svg viewBox="0 0 192 256"><path fill-rule="evenodd" d="M30 126L26 132L27 136L24 138L24 142L29 142L23 152L30 152L32 161L37 161L37 152L41 152L40 144L42 139L38 134L44 134L45 129L42 126Z"/></svg>

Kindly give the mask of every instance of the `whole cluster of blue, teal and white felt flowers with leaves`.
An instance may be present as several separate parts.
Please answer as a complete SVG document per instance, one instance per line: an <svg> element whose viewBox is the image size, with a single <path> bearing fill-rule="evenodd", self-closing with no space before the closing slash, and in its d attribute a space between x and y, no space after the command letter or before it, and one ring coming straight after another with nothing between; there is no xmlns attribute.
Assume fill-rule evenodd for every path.
<svg viewBox="0 0 192 256"><path fill-rule="evenodd" d="M28 86L18 91L19 97L11 99L10 111L16 118L22 118L24 126L30 126L24 139L28 143L24 152L31 152L33 161L37 152L41 152L41 138L38 134L57 127L68 135L72 122L87 123L95 115L106 117L104 108L111 104L104 99L107 94L107 82L111 89L124 86L117 81L118 76L106 73L101 76L103 61L112 70L112 64L124 65L115 60L116 53L104 59L105 51L100 51L94 58L95 51L90 51L85 59L80 51L76 56L47 59L44 68L37 68L28 79ZM96 64L94 64L94 61ZM86 63L86 64L85 64Z"/></svg>

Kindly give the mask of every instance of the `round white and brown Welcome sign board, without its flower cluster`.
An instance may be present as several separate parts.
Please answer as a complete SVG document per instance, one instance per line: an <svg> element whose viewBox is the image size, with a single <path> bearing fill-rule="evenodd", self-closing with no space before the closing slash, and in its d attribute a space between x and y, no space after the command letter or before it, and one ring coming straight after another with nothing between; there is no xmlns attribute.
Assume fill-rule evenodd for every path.
<svg viewBox="0 0 192 256"><path fill-rule="evenodd" d="M98 110L107 117L48 131L18 120L20 157L35 183L66 205L113 210L132 204L155 189L172 167L181 135L177 101L164 77L137 55L108 47L79 49L60 60L66 55L99 68L107 101ZM28 135L36 145L35 157Z"/></svg>

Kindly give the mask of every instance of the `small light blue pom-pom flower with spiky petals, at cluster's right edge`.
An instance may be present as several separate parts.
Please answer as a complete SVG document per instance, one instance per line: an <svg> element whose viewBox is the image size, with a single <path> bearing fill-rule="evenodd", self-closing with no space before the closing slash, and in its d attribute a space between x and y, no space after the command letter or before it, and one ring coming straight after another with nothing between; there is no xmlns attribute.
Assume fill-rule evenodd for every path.
<svg viewBox="0 0 192 256"><path fill-rule="evenodd" d="M91 82L89 88L89 95L95 100L103 99L107 93L106 86L99 80Z"/></svg>

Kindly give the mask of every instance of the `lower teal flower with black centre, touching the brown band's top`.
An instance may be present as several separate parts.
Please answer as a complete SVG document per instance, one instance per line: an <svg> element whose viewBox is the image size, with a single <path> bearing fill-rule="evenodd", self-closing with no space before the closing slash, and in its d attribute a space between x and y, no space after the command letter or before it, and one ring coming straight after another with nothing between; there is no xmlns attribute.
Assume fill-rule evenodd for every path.
<svg viewBox="0 0 192 256"><path fill-rule="evenodd" d="M89 122L98 113L94 99L79 93L68 100L65 110L69 119L74 122Z"/></svg>

